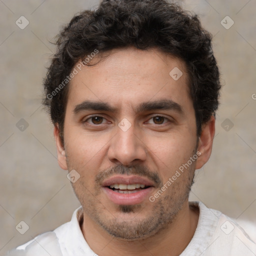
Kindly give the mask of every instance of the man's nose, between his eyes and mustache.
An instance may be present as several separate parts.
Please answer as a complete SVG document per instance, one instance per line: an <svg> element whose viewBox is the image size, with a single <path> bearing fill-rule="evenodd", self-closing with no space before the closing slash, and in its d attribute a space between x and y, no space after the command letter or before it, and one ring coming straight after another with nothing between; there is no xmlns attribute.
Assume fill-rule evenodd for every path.
<svg viewBox="0 0 256 256"><path fill-rule="evenodd" d="M130 165L135 162L141 163L146 159L146 145L135 133L133 125L124 131L118 126L116 134L110 140L108 159L116 164Z"/></svg>

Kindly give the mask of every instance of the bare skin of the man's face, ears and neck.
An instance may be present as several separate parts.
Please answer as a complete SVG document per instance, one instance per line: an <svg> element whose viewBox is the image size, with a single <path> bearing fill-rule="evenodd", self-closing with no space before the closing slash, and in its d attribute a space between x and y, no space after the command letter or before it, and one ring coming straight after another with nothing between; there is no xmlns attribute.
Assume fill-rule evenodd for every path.
<svg viewBox="0 0 256 256"><path fill-rule="evenodd" d="M157 49L109 53L71 80L64 145L58 125L54 127L60 167L80 174L72 186L83 207L82 233L98 255L179 255L198 222L198 209L189 206L188 195L194 170L210 156L215 119L204 123L200 137L196 136L188 77L180 59ZM92 61L96 63L97 57ZM183 73L176 81L169 75L174 67ZM141 102L160 99L171 99L182 112L136 111ZM85 100L107 102L116 111L74 111ZM103 118L89 118L92 114ZM126 131L118 126L123 118L131 124ZM153 182L149 196L154 195L196 151L197 160L153 202L146 197L137 204L116 204L101 186L116 173L144 175Z"/></svg>

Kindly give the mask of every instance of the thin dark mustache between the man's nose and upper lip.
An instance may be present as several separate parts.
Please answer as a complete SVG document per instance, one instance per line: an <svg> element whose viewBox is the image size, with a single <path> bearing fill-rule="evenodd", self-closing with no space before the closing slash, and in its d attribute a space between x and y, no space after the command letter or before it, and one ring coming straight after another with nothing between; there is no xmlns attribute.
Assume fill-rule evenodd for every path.
<svg viewBox="0 0 256 256"><path fill-rule="evenodd" d="M151 171L146 166L141 164L131 166L124 166L122 164L118 164L113 167L107 168L106 170L100 171L95 176L95 183L102 184L102 182L106 178L111 177L114 174L139 175L147 177L155 184L156 187L160 184L163 184L157 172Z"/></svg>

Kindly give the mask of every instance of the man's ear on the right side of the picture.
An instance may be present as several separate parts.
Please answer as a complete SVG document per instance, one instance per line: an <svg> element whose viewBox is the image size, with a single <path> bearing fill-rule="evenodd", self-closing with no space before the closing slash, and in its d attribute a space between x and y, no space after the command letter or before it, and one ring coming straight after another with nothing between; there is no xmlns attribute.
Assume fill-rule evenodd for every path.
<svg viewBox="0 0 256 256"><path fill-rule="evenodd" d="M198 140L195 169L200 169L209 159L212 149L213 138L215 134L215 117L212 115L210 119L202 125L202 132Z"/></svg>

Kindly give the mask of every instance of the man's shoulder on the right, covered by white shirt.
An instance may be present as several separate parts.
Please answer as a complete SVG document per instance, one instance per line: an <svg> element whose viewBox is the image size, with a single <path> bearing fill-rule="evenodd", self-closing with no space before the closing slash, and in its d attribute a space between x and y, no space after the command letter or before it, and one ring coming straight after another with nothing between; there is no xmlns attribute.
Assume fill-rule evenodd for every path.
<svg viewBox="0 0 256 256"><path fill-rule="evenodd" d="M237 221L218 210L206 207L202 202L190 202L190 205L199 207L199 220L190 246L185 252L196 248L201 256L256 255L254 223Z"/></svg>

